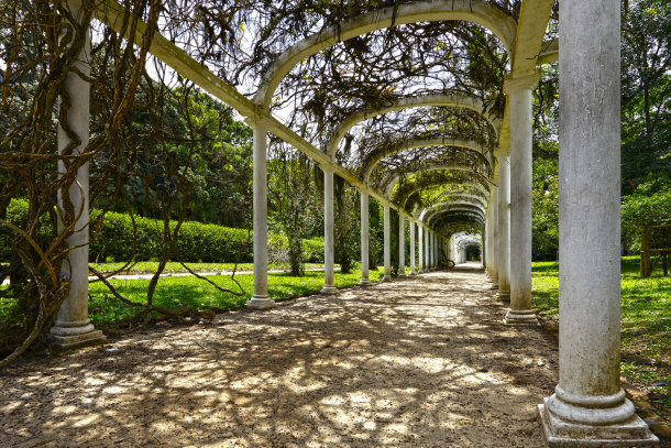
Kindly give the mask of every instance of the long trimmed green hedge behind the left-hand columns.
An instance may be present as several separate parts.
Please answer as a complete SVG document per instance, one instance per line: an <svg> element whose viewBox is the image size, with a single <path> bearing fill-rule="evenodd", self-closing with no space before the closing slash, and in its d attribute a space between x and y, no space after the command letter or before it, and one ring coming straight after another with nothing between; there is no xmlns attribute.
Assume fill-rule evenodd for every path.
<svg viewBox="0 0 671 448"><path fill-rule="evenodd" d="M7 219L21 226L28 214L28 201L13 199L7 210ZM91 210L90 261L125 261L133 255L133 222L125 214L108 211L102 225L97 219L100 210ZM135 239L135 260L156 260L161 254L163 242L162 220L134 217L138 238ZM170 230L176 221L169 221ZM52 231L51 223L44 226L43 236ZM268 234L268 249L272 261L283 260L286 254L287 239L284 236ZM312 238L302 241L306 262L323 262L323 239ZM205 225L196 221L185 221L179 227L177 251L185 262L239 262L253 261L252 232L246 229L235 229L216 225ZM0 260L11 256L11 244L6 236L0 236Z"/></svg>

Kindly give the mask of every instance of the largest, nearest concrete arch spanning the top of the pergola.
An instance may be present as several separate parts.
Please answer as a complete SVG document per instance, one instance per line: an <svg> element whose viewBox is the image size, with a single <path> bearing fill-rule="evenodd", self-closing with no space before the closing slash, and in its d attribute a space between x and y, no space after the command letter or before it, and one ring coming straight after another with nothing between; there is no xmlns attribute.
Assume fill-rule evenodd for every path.
<svg viewBox="0 0 671 448"><path fill-rule="evenodd" d="M302 41L296 42L282 53L266 70L258 86L258 91L254 96L254 103L262 106L264 110L268 110L272 97L282 79L300 61L317 54L323 48L393 25L443 20L462 20L484 26L498 37L506 47L510 59L513 58L517 23L512 17L486 1L424 1L383 8L352 18L339 26L330 26Z"/></svg>

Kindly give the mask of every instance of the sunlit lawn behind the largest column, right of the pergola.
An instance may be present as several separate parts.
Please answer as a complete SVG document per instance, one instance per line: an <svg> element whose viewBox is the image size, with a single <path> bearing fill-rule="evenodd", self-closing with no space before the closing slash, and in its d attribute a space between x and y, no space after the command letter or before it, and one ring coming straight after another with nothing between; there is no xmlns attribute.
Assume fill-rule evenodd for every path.
<svg viewBox="0 0 671 448"><path fill-rule="evenodd" d="M534 306L548 320L559 319L559 266L534 263ZM671 420L671 276L639 275L639 256L622 264L622 374L650 392L650 400Z"/></svg>

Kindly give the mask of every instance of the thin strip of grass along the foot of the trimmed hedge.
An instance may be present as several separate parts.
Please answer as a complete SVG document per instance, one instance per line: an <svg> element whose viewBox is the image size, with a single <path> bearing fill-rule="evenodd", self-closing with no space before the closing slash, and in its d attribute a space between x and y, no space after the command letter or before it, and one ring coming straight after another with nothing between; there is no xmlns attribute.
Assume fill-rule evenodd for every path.
<svg viewBox="0 0 671 448"><path fill-rule="evenodd" d="M123 267L125 263L91 263L91 266L100 272L114 272ZM221 272L233 271L235 263L186 263L196 272ZM339 265L337 264L336 267ZM158 269L156 261L140 261L123 270L127 274L153 274ZM253 271L254 263L238 263L238 272ZM288 263L268 263L268 269L272 271L289 270ZM305 263L305 269L323 269L322 263ZM182 263L169 261L165 265L165 273L187 272Z"/></svg>

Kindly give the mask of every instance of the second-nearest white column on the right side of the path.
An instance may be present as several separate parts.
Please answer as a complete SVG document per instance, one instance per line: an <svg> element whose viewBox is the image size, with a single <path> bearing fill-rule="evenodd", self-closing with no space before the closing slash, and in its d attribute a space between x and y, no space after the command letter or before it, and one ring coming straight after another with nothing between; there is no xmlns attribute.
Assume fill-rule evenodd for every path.
<svg viewBox="0 0 671 448"><path fill-rule="evenodd" d="M537 75L512 80L510 309L506 325L538 325L531 308L531 89Z"/></svg>

